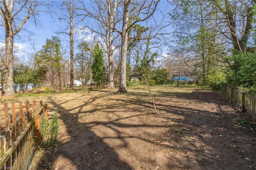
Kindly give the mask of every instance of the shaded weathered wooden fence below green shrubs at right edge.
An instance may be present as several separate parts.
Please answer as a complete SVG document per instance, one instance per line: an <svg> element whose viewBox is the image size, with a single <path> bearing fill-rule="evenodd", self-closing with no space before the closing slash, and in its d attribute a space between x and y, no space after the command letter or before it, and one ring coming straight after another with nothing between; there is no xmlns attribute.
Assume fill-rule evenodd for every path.
<svg viewBox="0 0 256 170"><path fill-rule="evenodd" d="M242 113L248 112L256 120L256 93L244 87L226 87L226 94L241 107Z"/></svg>

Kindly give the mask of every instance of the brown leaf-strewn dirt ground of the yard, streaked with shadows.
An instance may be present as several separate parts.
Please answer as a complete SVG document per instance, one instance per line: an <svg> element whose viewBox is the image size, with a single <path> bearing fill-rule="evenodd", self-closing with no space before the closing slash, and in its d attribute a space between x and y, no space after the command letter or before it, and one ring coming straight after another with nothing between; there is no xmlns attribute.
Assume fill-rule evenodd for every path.
<svg viewBox="0 0 256 170"><path fill-rule="evenodd" d="M224 95L195 87L146 87L22 97L57 111L53 170L256 169L256 133ZM45 169L32 162L32 169Z"/></svg>

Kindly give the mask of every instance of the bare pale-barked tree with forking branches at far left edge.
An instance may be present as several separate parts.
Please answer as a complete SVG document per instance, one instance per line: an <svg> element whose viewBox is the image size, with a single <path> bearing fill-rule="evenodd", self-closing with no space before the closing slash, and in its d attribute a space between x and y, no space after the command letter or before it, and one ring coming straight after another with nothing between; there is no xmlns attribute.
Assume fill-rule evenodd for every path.
<svg viewBox="0 0 256 170"><path fill-rule="evenodd" d="M34 16L38 5L38 2L35 0L2 0L0 2L0 15L4 21L5 29L5 59L8 68L8 72L6 73L6 96L14 94L14 36L20 32L22 26L24 26L28 19Z"/></svg>

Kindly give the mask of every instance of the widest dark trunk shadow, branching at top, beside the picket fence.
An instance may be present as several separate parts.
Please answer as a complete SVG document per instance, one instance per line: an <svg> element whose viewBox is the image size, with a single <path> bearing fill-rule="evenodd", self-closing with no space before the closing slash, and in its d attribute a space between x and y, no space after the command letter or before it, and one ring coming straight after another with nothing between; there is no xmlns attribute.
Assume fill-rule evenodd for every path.
<svg viewBox="0 0 256 170"><path fill-rule="evenodd" d="M54 110L59 111L59 119L62 120L65 128L64 139L60 141L58 146L58 154L55 161L55 167L59 170L62 169L130 169L130 165L123 162L118 158L118 155L113 148L108 146L102 138L97 136L90 130L88 124L80 123L79 115L82 114L82 108L90 105L96 99L105 97L105 95L98 95L91 98L86 103L78 107L64 108L64 103L69 103L73 100L81 100L83 96L74 97L70 100L56 103L55 99L48 99ZM72 110L78 110L77 113ZM86 114L94 113L98 109L92 109ZM108 153L107 155L105 153Z"/></svg>

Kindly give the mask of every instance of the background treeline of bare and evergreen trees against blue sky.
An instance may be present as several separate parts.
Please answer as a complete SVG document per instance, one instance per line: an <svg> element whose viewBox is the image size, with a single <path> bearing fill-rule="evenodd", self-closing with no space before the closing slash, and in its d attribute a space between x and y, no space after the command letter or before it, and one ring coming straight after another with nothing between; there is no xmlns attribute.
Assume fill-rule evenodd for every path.
<svg viewBox="0 0 256 170"><path fill-rule="evenodd" d="M90 81L126 92L130 85L169 84L174 76L213 90L226 84L255 89L255 5L255 0L3 0L1 84L7 96L14 94L14 83L62 91L81 80L82 87ZM38 50L34 32L46 14L61 25ZM16 42L34 49L27 61L16 55Z"/></svg>

